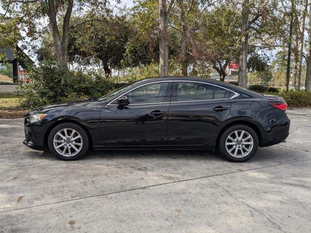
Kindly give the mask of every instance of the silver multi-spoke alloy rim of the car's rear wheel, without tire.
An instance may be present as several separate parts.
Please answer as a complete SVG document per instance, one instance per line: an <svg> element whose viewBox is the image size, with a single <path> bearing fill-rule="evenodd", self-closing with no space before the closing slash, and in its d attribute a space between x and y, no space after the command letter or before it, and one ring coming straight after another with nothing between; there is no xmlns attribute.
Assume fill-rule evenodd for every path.
<svg viewBox="0 0 311 233"><path fill-rule="evenodd" d="M245 130L236 130L230 133L225 140L225 149L235 157L242 158L247 156L254 147L254 139Z"/></svg>

